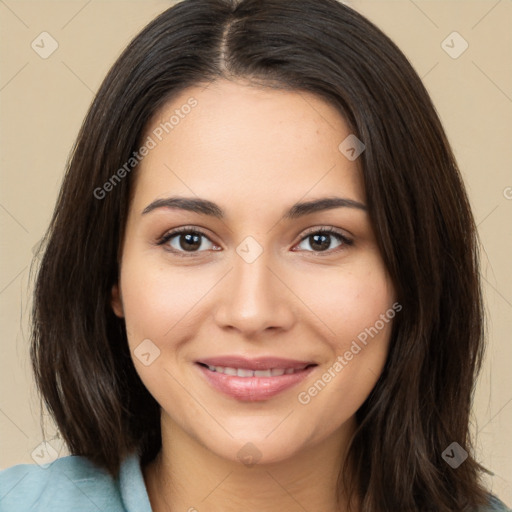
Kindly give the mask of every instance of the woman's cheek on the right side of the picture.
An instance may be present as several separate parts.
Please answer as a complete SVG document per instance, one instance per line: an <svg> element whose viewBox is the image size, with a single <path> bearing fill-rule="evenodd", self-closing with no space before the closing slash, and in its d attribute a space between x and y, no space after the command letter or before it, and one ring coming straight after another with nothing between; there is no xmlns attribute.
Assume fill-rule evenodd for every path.
<svg viewBox="0 0 512 512"><path fill-rule="evenodd" d="M326 434L355 414L375 386L401 307L378 258L325 278L317 274L302 293L314 304L330 350L322 373L298 390L297 400Z"/></svg>

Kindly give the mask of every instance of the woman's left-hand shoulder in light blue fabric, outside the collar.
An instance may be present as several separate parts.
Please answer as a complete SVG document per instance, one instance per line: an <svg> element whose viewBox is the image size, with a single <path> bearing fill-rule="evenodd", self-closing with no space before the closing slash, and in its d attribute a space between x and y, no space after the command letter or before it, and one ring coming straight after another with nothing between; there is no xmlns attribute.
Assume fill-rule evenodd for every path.
<svg viewBox="0 0 512 512"><path fill-rule="evenodd" d="M0 471L0 512L108 510L123 506L115 480L86 457L47 466L19 464Z"/></svg>

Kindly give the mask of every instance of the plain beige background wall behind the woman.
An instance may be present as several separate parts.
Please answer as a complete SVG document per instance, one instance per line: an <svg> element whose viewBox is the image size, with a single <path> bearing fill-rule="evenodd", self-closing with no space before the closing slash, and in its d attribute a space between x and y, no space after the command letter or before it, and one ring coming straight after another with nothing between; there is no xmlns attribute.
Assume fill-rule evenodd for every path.
<svg viewBox="0 0 512 512"><path fill-rule="evenodd" d="M33 463L31 453L42 441L27 341L33 248L49 222L94 92L128 41L172 3L0 0L2 468ZM411 60L464 173L484 247L489 312L489 348L475 394L477 456L494 473L488 478L493 491L511 505L512 1L347 3ZM47 59L31 48L43 31L59 45ZM469 45L458 58L442 46L454 31ZM446 44L453 54L464 41L450 36ZM67 453L57 437L50 444L60 455Z"/></svg>

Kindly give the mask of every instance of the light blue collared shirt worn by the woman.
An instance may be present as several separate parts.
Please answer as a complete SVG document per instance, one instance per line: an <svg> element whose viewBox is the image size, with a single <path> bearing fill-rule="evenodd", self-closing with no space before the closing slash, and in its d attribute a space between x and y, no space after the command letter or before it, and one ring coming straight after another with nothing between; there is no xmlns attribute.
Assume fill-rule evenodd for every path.
<svg viewBox="0 0 512 512"><path fill-rule="evenodd" d="M139 456L127 457L119 478L86 457L61 457L47 467L19 464L0 471L0 512L151 512ZM512 512L490 496L480 512Z"/></svg>

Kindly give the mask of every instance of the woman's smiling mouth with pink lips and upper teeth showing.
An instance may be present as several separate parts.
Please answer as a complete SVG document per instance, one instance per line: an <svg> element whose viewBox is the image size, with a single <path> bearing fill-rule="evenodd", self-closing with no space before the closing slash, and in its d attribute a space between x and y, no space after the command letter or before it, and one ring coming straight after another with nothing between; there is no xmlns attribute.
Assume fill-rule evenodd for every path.
<svg viewBox="0 0 512 512"><path fill-rule="evenodd" d="M217 357L196 362L207 382L239 401L268 400L304 380L314 362L282 358Z"/></svg>

